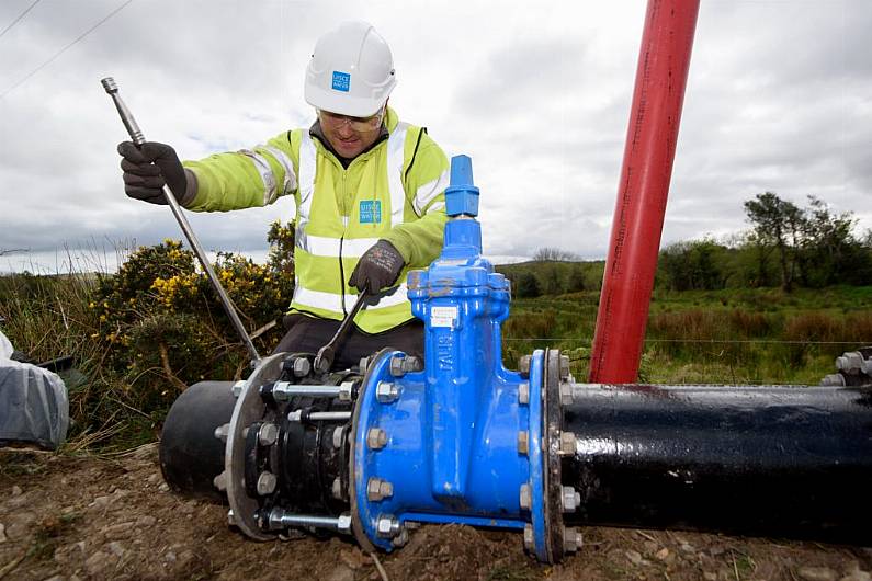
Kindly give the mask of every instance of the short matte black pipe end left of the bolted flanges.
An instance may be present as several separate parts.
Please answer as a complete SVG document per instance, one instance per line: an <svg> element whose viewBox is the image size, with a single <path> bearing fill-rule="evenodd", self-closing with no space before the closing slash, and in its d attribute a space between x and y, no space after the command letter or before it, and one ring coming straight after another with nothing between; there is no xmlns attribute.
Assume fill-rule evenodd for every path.
<svg viewBox="0 0 872 581"><path fill-rule="evenodd" d="M225 441L215 429L230 421L234 381L200 381L170 408L160 434L160 470L177 492L226 502L213 479L224 470Z"/></svg>

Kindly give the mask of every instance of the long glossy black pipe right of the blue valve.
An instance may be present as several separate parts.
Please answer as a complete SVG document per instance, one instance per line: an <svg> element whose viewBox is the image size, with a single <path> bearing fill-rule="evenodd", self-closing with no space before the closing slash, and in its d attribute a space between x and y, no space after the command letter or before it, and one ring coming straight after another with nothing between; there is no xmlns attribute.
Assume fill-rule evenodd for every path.
<svg viewBox="0 0 872 581"><path fill-rule="evenodd" d="M872 544L872 391L575 385L566 524Z"/></svg>

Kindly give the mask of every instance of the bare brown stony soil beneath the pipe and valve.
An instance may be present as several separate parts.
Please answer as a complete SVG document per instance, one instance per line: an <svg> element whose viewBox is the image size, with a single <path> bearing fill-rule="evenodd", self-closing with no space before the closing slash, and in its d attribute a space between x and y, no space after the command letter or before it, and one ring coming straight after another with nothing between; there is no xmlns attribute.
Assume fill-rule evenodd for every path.
<svg viewBox="0 0 872 581"><path fill-rule="evenodd" d="M227 508L171 492L156 445L118 457L0 449L0 579L846 580L870 581L872 551L699 533L586 528L557 566L519 533L424 526L385 570L349 539L256 543Z"/></svg>

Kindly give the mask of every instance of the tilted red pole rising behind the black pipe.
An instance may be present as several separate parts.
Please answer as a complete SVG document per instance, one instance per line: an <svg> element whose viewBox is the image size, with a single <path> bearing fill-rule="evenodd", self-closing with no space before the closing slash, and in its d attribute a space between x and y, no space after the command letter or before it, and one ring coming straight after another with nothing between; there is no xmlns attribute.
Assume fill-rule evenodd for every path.
<svg viewBox="0 0 872 581"><path fill-rule="evenodd" d="M699 0L648 0L602 281L591 383L636 380Z"/></svg>

